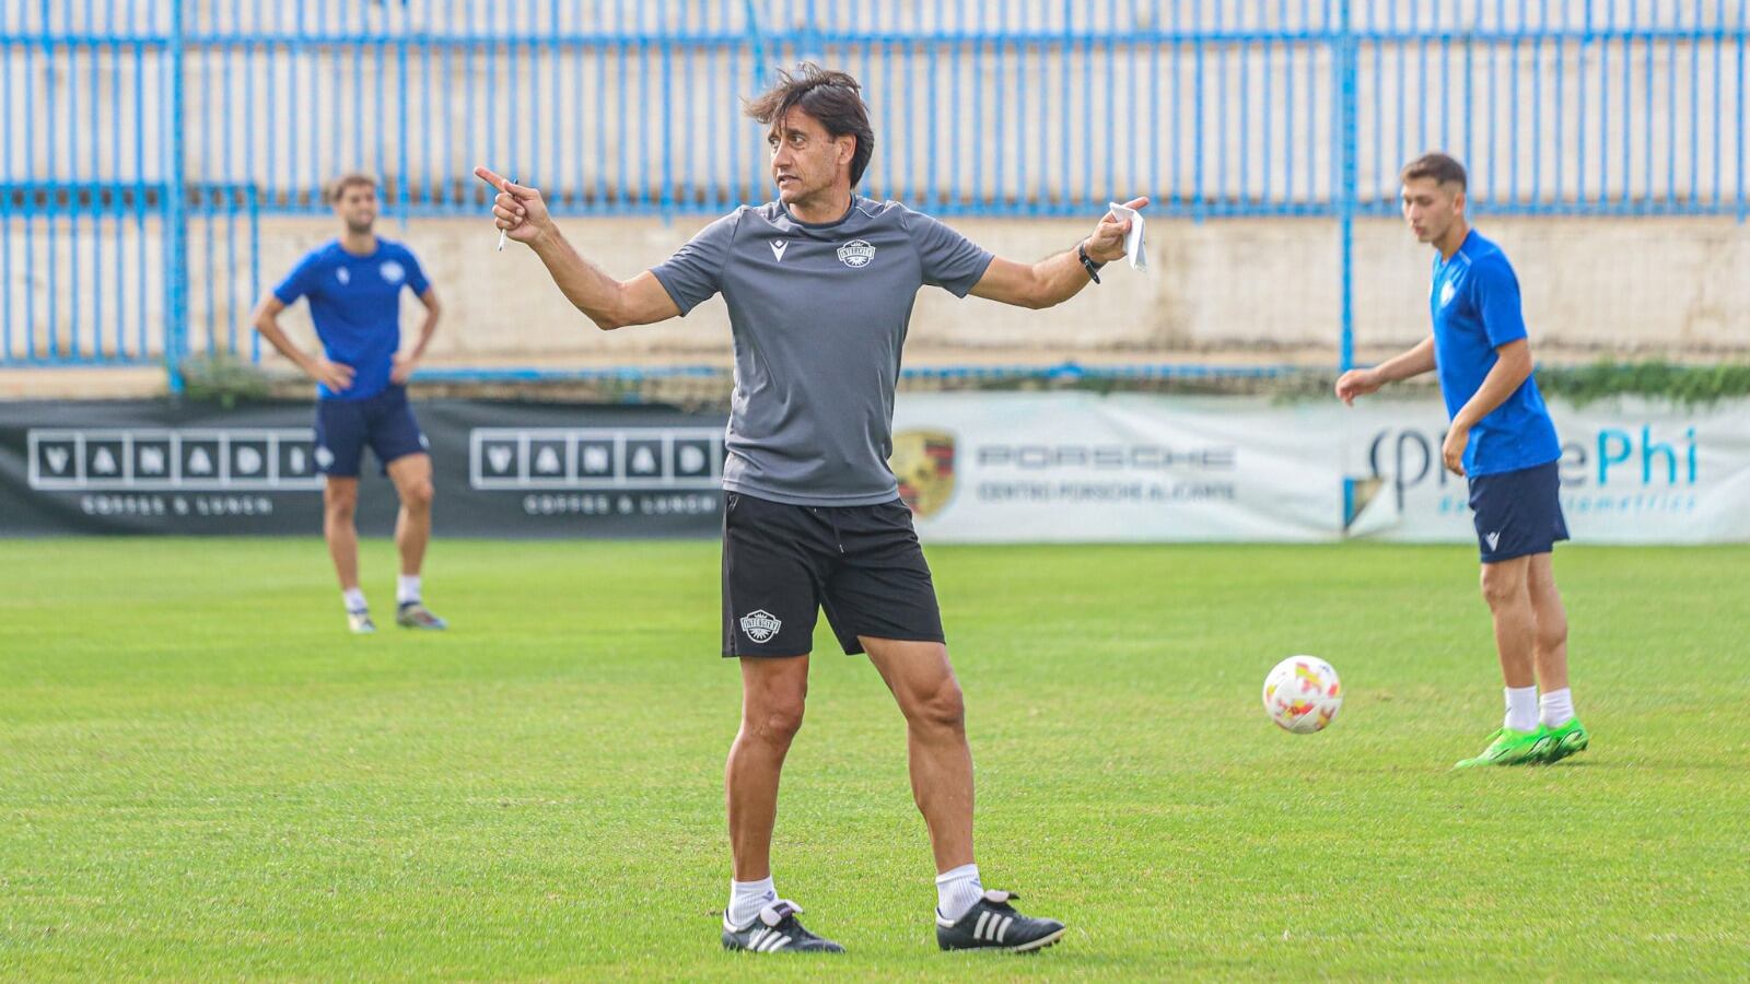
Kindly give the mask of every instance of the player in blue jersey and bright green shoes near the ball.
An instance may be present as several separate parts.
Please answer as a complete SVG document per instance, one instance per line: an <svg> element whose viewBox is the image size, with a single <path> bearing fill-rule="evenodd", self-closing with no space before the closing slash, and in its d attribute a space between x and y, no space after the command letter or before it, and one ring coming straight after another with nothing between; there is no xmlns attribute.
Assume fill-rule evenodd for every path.
<svg viewBox="0 0 1750 984"><path fill-rule="evenodd" d="M1465 221L1463 165L1426 154L1404 168L1402 182L1404 217L1437 252L1433 334L1379 366L1344 373L1337 397L1353 404L1384 383L1438 373L1452 420L1440 457L1470 481L1482 597L1507 683L1507 720L1458 767L1556 762L1584 751L1589 737L1573 716L1568 615L1550 569L1550 550L1568 539L1558 496L1561 443L1531 378L1519 280L1507 254Z"/></svg>

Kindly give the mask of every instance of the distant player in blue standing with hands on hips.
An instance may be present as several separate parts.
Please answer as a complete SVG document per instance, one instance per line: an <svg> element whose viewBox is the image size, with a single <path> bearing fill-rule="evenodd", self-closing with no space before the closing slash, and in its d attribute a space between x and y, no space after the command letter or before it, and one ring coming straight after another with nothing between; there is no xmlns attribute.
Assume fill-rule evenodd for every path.
<svg viewBox="0 0 1750 984"><path fill-rule="evenodd" d="M408 247L371 231L376 222L376 179L348 173L327 191L343 224L338 240L304 256L292 273L256 308L256 331L317 382L317 467L324 474L322 534L340 576L346 623L354 632L374 632L371 609L359 590L359 466L366 445L376 455L396 494L396 548L401 580L396 585L396 623L406 629L444 629L420 601L420 566L432 531L432 460L425 434L408 406L408 376L438 331L438 294ZM401 292L425 305L413 350L401 355ZM310 299L322 354L301 350L278 324L278 313L298 298Z"/></svg>

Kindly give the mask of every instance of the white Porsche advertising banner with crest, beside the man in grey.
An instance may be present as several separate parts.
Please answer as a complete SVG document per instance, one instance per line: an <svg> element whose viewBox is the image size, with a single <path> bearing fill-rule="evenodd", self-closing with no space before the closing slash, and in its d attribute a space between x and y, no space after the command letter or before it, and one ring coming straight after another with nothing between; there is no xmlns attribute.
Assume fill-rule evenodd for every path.
<svg viewBox="0 0 1750 984"><path fill-rule="evenodd" d="M928 541L1335 539L1332 424L1265 397L906 394L892 467Z"/></svg>

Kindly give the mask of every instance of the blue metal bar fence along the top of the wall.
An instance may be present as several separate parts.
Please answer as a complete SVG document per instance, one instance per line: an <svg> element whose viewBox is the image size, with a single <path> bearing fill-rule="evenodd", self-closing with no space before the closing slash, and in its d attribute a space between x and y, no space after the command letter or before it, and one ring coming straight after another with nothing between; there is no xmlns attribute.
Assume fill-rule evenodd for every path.
<svg viewBox="0 0 1750 984"><path fill-rule="evenodd" d="M240 320L224 296L252 247L228 224L320 212L318 187L341 170L382 173L402 217L478 215L478 161L569 214L763 200L761 135L738 96L802 58L864 82L870 191L943 215L1085 214L1146 193L1169 215L1335 219L1348 268L1353 221L1393 214L1398 165L1442 147L1494 214L1741 221L1746 12L1750 0L10 0L0 364L231 345L214 320ZM152 270L110 285L142 257Z"/></svg>

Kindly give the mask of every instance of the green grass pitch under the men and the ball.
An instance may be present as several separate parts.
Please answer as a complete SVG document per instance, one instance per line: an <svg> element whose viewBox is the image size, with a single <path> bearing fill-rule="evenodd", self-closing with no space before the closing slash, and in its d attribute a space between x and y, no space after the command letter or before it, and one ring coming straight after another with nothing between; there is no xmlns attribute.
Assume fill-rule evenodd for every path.
<svg viewBox="0 0 1750 984"><path fill-rule="evenodd" d="M1750 548L1563 548L1592 749L1463 774L1502 713L1466 548L929 557L985 884L1050 951L934 949L901 720L824 622L775 865L850 952L719 951L714 543L439 541L455 629L350 637L315 539L58 539L0 543L0 977L1750 968ZM1298 651L1348 697L1311 737L1258 699Z"/></svg>

